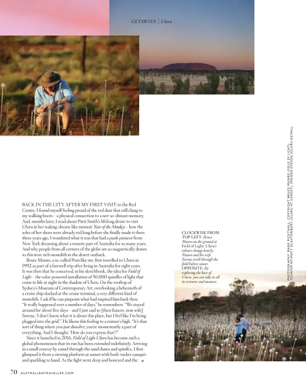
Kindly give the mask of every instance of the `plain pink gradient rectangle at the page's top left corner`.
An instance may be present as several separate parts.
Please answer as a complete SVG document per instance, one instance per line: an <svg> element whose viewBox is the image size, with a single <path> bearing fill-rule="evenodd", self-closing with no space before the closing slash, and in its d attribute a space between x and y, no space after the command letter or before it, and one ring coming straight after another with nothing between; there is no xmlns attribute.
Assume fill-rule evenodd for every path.
<svg viewBox="0 0 306 385"><path fill-rule="evenodd" d="M109 0L1 0L0 35L109 35Z"/></svg>

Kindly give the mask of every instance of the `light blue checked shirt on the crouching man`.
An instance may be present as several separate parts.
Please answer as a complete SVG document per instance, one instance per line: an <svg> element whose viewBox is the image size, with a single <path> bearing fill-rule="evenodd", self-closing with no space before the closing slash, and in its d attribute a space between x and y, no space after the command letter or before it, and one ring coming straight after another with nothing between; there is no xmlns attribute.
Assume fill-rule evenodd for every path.
<svg viewBox="0 0 306 385"><path fill-rule="evenodd" d="M60 84L61 84L61 95L59 95ZM43 91L42 86L39 86L35 91L35 113L36 114L37 114L36 110L42 105L42 91ZM64 98L67 100L68 103L74 103L76 101L76 97L72 92L72 89L69 87L69 85L65 80L61 79L56 84L53 96L50 96L46 91L44 91L43 104L49 105L52 102L55 102L55 101L58 101L59 99L64 99ZM63 104L60 105L60 110L62 108L63 108ZM54 108L52 111L57 111L57 107Z"/></svg>

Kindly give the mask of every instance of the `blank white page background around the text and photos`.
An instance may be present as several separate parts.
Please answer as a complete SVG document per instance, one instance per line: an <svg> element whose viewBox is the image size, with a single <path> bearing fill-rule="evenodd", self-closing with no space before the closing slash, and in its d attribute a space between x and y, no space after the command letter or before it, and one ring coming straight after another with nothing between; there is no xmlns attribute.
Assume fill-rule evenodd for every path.
<svg viewBox="0 0 306 385"><path fill-rule="evenodd" d="M239 258L247 260L245 269L285 270L290 126L294 269L306 269L304 1L256 1L255 8L254 96L141 95L139 137L0 138L5 384L163 384L204 381L198 370L215 375L211 362L196 371L193 365L193 372L187 371L191 363L174 362L174 270L181 264L181 231L219 230L223 270L233 269ZM144 209L148 325L141 333L149 346L143 363L21 363L20 234L21 202L26 201L136 201ZM221 365L228 365L228 373L237 369ZM281 381L289 374L288 366L279 364L277 370L261 366L250 376L250 365L239 366L244 382ZM292 381L303 368L299 363L290 371ZM75 375L14 376L10 369ZM222 373L219 379L226 378Z"/></svg>

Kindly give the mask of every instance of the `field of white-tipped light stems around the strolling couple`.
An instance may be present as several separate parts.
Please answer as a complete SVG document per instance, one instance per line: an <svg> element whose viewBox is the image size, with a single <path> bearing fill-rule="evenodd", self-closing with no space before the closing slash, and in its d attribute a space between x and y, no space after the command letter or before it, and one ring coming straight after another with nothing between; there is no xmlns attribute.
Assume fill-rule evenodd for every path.
<svg viewBox="0 0 306 385"><path fill-rule="evenodd" d="M306 318L249 318L246 345L235 343L235 313L185 313L175 320L176 361L306 361Z"/></svg>

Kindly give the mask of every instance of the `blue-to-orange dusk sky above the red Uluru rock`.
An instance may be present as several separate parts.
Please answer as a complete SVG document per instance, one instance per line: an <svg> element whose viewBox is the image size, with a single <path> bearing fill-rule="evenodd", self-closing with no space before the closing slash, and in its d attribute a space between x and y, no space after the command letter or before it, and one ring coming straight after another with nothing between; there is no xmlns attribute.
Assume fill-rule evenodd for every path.
<svg viewBox="0 0 306 385"><path fill-rule="evenodd" d="M110 35L140 36L141 69L199 62L253 70L254 0L110 0Z"/></svg>

